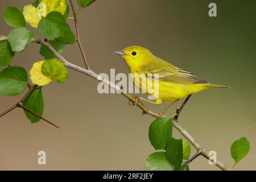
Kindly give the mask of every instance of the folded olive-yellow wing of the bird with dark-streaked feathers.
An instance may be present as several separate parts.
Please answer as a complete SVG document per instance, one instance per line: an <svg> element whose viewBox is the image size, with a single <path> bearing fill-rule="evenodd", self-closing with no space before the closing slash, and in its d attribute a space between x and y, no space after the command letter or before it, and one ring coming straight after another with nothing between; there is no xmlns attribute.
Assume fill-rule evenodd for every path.
<svg viewBox="0 0 256 182"><path fill-rule="evenodd" d="M170 81L177 84L207 83L207 81L197 78L192 73L184 71L184 69L177 68L174 65L167 63L166 61L159 58L155 65L153 64L150 67L147 67L143 70L143 73L145 73L147 76L148 73L158 73L159 80Z"/></svg>

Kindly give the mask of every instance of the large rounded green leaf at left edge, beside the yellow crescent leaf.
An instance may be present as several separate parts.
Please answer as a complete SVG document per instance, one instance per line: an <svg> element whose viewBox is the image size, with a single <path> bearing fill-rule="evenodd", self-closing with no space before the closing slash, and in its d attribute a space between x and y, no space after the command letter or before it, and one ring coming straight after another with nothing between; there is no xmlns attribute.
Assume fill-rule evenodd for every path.
<svg viewBox="0 0 256 182"><path fill-rule="evenodd" d="M16 96L27 88L27 72L22 67L8 67L0 72L0 94Z"/></svg>

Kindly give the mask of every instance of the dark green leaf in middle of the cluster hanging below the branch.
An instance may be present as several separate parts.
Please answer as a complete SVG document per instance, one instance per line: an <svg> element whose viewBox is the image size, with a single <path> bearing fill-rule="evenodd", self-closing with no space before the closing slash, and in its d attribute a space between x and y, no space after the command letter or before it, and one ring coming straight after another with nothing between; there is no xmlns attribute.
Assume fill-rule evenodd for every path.
<svg viewBox="0 0 256 182"><path fill-rule="evenodd" d="M178 170L183 160L183 144L181 139L171 138L166 145L167 159Z"/></svg>

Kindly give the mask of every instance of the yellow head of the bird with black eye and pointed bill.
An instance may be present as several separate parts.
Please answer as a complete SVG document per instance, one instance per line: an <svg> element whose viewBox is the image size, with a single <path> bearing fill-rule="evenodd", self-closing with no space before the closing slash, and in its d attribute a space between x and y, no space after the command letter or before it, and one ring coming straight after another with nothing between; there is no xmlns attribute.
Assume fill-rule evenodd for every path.
<svg viewBox="0 0 256 182"><path fill-rule="evenodd" d="M155 57L148 49L140 46L126 47L123 51L115 51L114 53L123 57L131 71L150 64L150 61Z"/></svg>

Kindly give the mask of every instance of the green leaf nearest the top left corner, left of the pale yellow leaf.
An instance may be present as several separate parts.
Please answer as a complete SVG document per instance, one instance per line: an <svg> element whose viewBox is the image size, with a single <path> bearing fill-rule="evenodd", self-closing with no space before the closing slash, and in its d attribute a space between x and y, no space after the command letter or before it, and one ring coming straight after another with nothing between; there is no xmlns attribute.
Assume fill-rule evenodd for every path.
<svg viewBox="0 0 256 182"><path fill-rule="evenodd" d="M3 11L3 19L12 27L24 27L25 19L22 12L16 7L7 6Z"/></svg>

